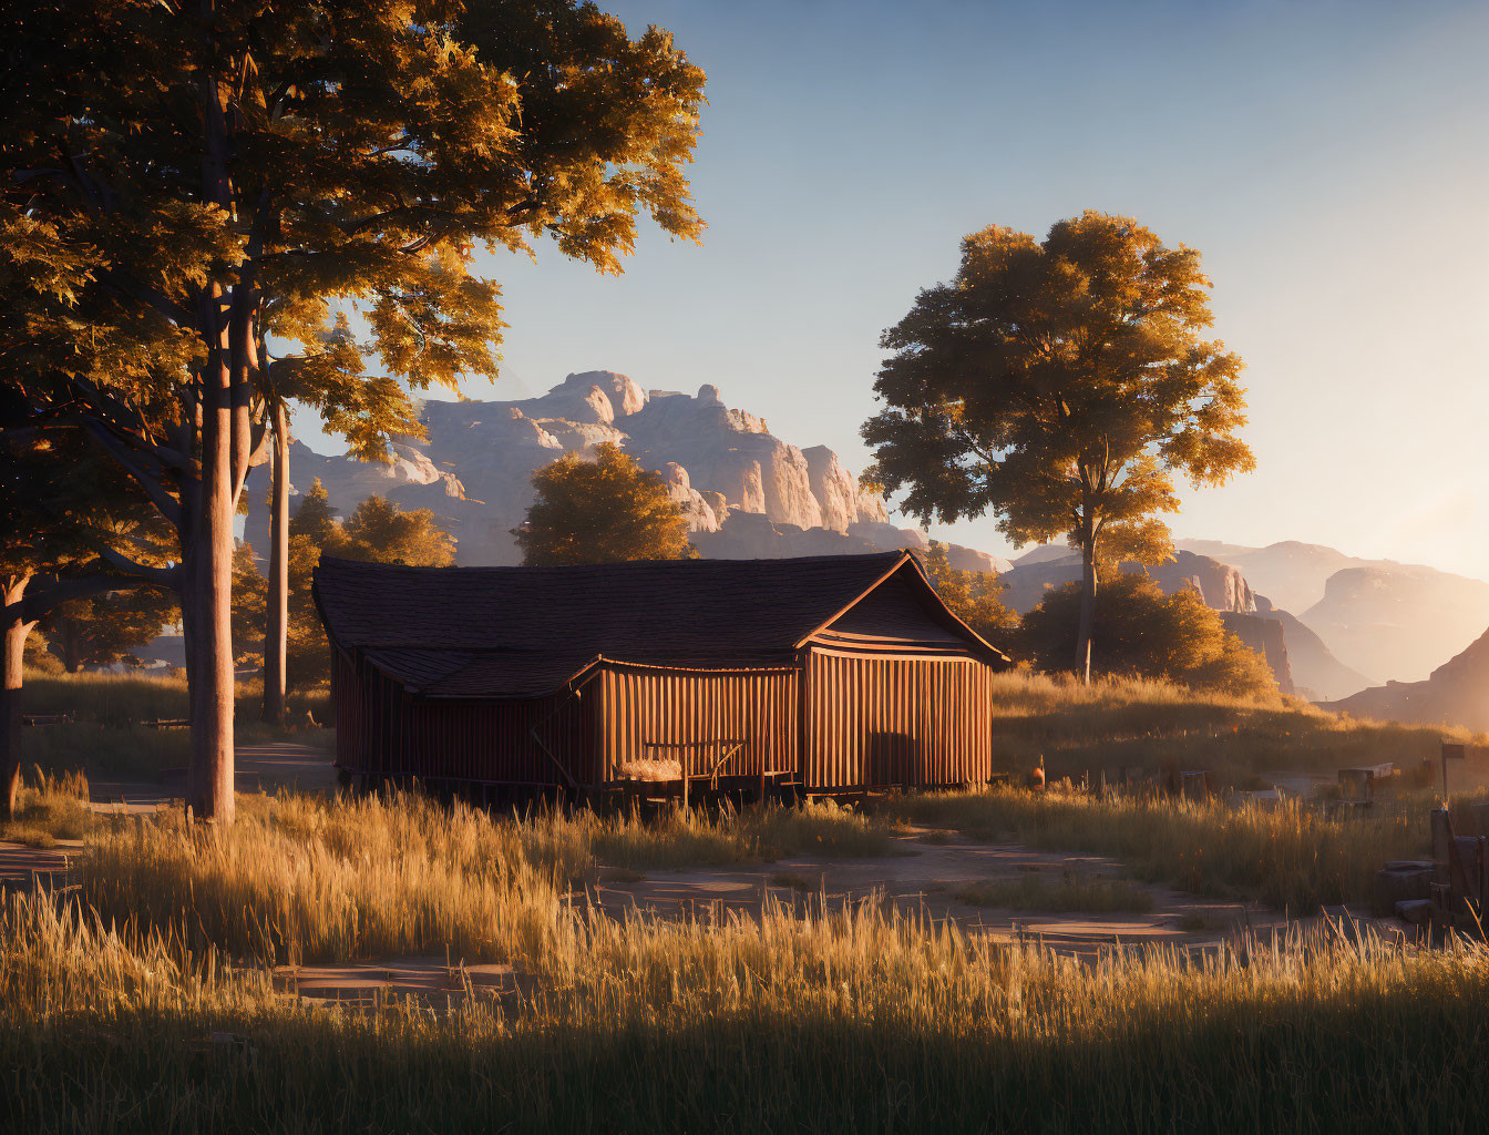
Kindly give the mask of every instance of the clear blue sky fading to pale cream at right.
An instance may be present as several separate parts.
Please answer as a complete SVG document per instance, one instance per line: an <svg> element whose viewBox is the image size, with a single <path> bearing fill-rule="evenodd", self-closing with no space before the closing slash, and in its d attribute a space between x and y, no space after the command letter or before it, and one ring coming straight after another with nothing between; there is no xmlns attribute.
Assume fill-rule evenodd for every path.
<svg viewBox="0 0 1489 1135"><path fill-rule="evenodd" d="M701 246L493 258L508 374L721 387L861 469L879 334L998 222L1200 249L1258 469L1181 536L1489 576L1489 4L602 0L709 74ZM475 398L514 396L484 383ZM990 518L940 530L1007 551Z"/></svg>

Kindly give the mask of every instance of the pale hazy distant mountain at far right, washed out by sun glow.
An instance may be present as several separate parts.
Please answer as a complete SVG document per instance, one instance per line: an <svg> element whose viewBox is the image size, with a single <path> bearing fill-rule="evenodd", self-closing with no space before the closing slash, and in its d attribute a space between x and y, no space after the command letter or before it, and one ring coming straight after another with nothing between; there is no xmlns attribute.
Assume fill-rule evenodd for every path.
<svg viewBox="0 0 1489 1135"><path fill-rule="evenodd" d="M1346 666L1374 679L1423 679L1489 623L1489 582L1423 565L1362 560L1297 541L1179 547L1239 568L1252 587L1297 612Z"/></svg>

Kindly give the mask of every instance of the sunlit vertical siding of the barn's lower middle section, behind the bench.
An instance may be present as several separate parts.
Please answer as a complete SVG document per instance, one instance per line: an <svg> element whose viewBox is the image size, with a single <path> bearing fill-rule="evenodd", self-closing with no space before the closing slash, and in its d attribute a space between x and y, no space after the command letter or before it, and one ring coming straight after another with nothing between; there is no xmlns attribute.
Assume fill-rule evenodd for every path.
<svg viewBox="0 0 1489 1135"><path fill-rule="evenodd" d="M795 670L700 673L608 666L596 685L599 775L606 780L618 779L619 767L630 761L680 760L683 752L692 772L701 775L736 742L743 748L719 766L719 776L797 769Z"/></svg>

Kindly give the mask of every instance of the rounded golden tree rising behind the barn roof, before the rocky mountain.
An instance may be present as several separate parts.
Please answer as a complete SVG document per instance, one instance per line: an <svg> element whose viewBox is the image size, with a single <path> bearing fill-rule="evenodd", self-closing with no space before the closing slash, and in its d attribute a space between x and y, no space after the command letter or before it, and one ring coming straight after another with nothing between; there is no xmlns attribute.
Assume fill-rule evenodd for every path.
<svg viewBox="0 0 1489 1135"><path fill-rule="evenodd" d="M527 523L514 529L523 563L682 560L688 521L666 481L609 442L594 460L567 453L533 474Z"/></svg>

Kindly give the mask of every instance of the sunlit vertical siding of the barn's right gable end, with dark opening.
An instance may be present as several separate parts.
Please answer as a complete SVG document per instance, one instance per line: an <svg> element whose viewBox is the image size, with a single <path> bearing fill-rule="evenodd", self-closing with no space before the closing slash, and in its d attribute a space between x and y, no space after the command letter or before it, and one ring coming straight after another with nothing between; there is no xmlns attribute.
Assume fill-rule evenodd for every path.
<svg viewBox="0 0 1489 1135"><path fill-rule="evenodd" d="M992 675L971 658L810 651L806 791L986 780L993 766Z"/></svg>

